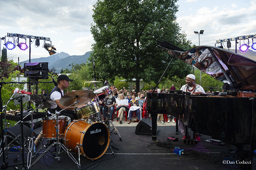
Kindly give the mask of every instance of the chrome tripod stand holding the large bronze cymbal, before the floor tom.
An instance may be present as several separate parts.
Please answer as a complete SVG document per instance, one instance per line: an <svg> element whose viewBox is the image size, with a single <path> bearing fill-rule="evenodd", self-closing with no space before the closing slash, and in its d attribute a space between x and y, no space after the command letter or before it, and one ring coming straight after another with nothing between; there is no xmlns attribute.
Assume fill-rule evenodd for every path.
<svg viewBox="0 0 256 170"><path fill-rule="evenodd" d="M76 103L79 103L80 102L80 100L78 99L77 101L75 101L73 104L76 104ZM70 106L72 106L73 104L71 104ZM70 106L68 106L68 107L66 107L66 108L69 108ZM66 109L65 108L65 109ZM63 109L63 110L65 110L65 109ZM33 163L32 163L32 165L31 165L31 167L39 160L39 159L41 159L43 156L44 156L44 154L47 154L46 152L48 152L48 150L50 149L50 148L52 148L52 147L54 147L54 146L56 146L56 157L53 157L53 156L51 156L51 155L49 155L49 154L47 154L48 156L51 156L51 157L53 157L53 158L55 158L55 159L58 159L58 162L60 162L60 160L59 160L59 150L62 148L67 154L68 154L68 156L77 164L77 167L78 167L78 169L79 170L81 170L82 168L81 168L81 166L80 166L80 155L79 155L79 163L77 162L77 160L71 155L71 153L69 153L69 150L63 145L63 144L61 144L60 142L59 142L59 119L58 119L58 117L59 117L59 114L60 114L60 112L62 112L63 110L61 110L61 111L59 111L59 112L55 112L55 114L53 115L53 116L56 116L56 127L55 127L55 129L56 129L56 142L54 142L53 144L51 144L45 151L44 151L44 153L43 154L41 154L37 159L36 159L36 161L34 161ZM53 117L53 116L51 116L51 117ZM60 148L59 148L60 147Z"/></svg>

